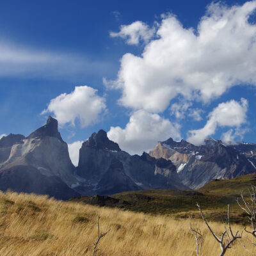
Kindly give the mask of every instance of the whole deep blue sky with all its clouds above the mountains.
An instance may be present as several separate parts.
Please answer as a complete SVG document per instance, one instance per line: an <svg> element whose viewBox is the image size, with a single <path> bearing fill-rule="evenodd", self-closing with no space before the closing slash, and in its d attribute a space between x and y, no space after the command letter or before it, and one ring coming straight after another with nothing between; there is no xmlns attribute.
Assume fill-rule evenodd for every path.
<svg viewBox="0 0 256 256"><path fill-rule="evenodd" d="M58 119L130 154L172 137L256 143L256 1L0 2L0 138Z"/></svg>

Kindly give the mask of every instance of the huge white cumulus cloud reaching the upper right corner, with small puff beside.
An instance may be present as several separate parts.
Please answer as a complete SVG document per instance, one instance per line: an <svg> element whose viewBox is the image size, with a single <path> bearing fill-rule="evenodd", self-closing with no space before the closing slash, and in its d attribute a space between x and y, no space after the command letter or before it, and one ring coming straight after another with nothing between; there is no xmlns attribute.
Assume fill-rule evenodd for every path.
<svg viewBox="0 0 256 256"><path fill-rule="evenodd" d="M122 90L123 106L152 113L164 111L177 95L209 102L237 84L255 85L256 26L248 21L255 8L256 1L232 7L212 3L196 30L184 28L174 15L163 15L156 38L141 56L124 54L117 79L106 84ZM140 34L122 32L127 28L132 27L116 36L138 44ZM144 34L150 38L148 31Z"/></svg>

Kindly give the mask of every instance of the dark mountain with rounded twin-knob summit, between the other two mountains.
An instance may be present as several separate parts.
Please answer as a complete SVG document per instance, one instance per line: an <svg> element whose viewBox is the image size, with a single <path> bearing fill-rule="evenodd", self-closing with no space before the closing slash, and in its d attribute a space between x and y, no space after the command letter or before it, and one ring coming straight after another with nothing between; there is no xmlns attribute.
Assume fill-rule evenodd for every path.
<svg viewBox="0 0 256 256"><path fill-rule="evenodd" d="M138 189L186 188L172 162L162 162L147 153L130 156L100 130L80 149L76 174L77 179L82 179L76 189L85 195L109 195Z"/></svg>

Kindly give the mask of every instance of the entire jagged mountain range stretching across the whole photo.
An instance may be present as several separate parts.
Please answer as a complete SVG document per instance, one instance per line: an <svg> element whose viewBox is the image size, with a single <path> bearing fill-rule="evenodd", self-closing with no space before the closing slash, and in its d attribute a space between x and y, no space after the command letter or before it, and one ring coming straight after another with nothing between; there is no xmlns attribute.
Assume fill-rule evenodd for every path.
<svg viewBox="0 0 256 256"><path fill-rule="evenodd" d="M205 140L159 141L148 153L131 156L105 131L93 133L79 151L75 167L68 146L51 116L28 137L9 134L0 140L0 189L67 200L79 195L111 195L141 189L198 189L212 179L256 172L256 145Z"/></svg>

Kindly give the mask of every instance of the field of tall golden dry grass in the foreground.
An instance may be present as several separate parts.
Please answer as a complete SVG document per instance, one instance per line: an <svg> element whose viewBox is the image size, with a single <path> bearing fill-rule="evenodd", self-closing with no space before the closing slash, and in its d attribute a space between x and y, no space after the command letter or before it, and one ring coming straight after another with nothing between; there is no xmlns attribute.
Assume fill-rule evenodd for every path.
<svg viewBox="0 0 256 256"><path fill-rule="evenodd" d="M92 255L99 215L100 231L109 228L111 231L100 240L96 255L196 255L195 238L187 219L174 220L170 216L150 216L13 192L0 193L0 211L1 256ZM223 223L210 224L217 234L223 231ZM202 255L220 255L220 245L205 223L193 220L193 226L204 234ZM232 227L234 231L243 230L239 225ZM243 241L253 251L245 238ZM253 253L246 252L237 241L225 255Z"/></svg>

